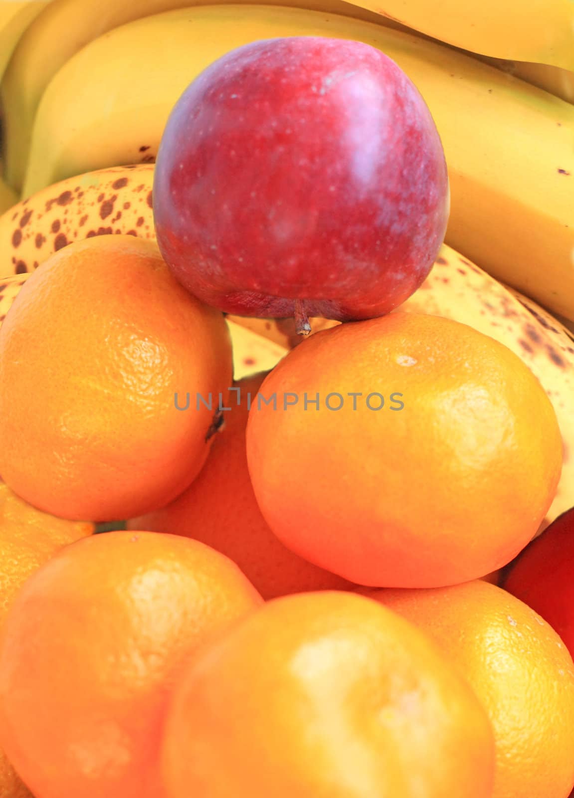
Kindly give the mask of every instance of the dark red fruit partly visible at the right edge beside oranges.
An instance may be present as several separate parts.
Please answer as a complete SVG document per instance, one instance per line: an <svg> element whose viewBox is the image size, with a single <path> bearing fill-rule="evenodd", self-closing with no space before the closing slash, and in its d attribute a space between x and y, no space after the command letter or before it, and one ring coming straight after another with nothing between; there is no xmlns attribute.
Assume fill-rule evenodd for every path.
<svg viewBox="0 0 574 798"><path fill-rule="evenodd" d="M574 657L574 508L525 549L505 588L540 613Z"/></svg>

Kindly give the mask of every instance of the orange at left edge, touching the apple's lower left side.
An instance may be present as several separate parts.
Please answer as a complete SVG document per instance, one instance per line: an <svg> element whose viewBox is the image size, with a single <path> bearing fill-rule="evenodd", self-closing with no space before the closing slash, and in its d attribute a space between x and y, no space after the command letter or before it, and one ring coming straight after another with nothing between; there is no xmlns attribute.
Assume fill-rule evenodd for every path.
<svg viewBox="0 0 574 798"><path fill-rule="evenodd" d="M204 464L231 379L222 314L180 286L154 243L70 244L30 275L0 327L2 478L68 519L167 504ZM180 407L190 394L186 412L176 393Z"/></svg>

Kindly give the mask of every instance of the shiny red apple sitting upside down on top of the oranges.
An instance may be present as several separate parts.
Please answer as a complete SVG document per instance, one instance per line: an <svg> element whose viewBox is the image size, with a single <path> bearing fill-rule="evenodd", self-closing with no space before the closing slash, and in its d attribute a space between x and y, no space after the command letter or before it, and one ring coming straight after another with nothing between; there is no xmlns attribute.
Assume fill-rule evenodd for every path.
<svg viewBox="0 0 574 798"><path fill-rule="evenodd" d="M393 310L444 239L449 184L418 89L358 41L244 45L169 117L153 186L176 278L228 313L340 321Z"/></svg>

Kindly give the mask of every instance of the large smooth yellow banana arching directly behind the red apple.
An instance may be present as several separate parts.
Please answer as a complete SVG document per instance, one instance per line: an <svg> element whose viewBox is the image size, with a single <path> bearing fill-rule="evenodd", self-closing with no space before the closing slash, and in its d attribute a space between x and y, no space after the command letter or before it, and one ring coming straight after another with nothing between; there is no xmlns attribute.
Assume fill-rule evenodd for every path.
<svg viewBox="0 0 574 798"><path fill-rule="evenodd" d="M445 147L446 243L574 319L574 106L473 57L362 20L200 6L111 31L46 89L26 195L66 176L154 157L172 106L200 71L248 41L290 35L358 39L394 58L421 90Z"/></svg>

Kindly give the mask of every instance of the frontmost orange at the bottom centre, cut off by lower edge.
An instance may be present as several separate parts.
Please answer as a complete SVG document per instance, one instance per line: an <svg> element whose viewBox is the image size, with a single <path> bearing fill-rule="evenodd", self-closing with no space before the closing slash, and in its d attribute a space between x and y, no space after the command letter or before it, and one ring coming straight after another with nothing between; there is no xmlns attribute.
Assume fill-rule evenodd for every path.
<svg viewBox="0 0 574 798"><path fill-rule="evenodd" d="M381 611L383 610L383 611ZM268 602L191 663L169 798L490 798L492 729L433 643L337 591Z"/></svg>

